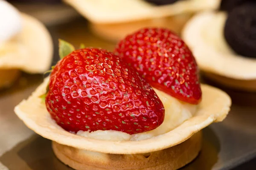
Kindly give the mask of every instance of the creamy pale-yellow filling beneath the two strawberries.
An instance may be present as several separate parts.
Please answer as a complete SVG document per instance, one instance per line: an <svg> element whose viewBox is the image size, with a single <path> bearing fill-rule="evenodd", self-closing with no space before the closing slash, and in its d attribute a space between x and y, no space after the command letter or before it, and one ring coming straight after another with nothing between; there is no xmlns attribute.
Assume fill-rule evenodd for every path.
<svg viewBox="0 0 256 170"><path fill-rule="evenodd" d="M115 130L96 130L94 132L78 131L77 135L92 139L108 140L108 141L140 141L150 139L167 133L175 127L191 118L197 110L197 105L182 102L169 94L154 89L157 96L163 102L165 108L165 118L163 123L154 130L130 135L128 133Z"/></svg>

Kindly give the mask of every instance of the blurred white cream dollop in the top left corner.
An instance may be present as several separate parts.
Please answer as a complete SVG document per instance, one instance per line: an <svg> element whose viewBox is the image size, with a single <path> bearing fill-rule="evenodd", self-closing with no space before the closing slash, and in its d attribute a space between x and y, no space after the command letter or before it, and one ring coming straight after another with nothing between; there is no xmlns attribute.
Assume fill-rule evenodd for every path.
<svg viewBox="0 0 256 170"><path fill-rule="evenodd" d="M19 11L5 0L0 0L0 44L11 39L22 28Z"/></svg>

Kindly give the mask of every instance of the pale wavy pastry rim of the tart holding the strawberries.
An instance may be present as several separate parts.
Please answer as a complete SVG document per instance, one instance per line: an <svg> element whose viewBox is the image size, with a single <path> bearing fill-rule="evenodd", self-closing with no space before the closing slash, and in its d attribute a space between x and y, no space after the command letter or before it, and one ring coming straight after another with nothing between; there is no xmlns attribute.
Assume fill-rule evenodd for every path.
<svg viewBox="0 0 256 170"><path fill-rule="evenodd" d="M189 139L194 133L212 122L220 122L230 110L231 99L223 91L202 85L202 101L195 115L167 133L141 141L103 141L69 133L50 117L41 96L45 93L49 78L45 79L27 100L15 107L15 113L39 135L59 144L101 153L136 154L163 150ZM106 147L108 146L108 147Z"/></svg>

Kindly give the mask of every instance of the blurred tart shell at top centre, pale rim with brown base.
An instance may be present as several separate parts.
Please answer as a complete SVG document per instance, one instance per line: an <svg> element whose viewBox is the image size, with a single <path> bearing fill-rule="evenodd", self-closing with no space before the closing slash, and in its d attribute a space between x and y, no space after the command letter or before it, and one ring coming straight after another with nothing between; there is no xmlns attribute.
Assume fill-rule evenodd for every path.
<svg viewBox="0 0 256 170"><path fill-rule="evenodd" d="M94 34L112 42L144 27L169 28L180 34L193 13L217 9L220 1L180 0L155 6L144 0L64 0L90 21Z"/></svg>

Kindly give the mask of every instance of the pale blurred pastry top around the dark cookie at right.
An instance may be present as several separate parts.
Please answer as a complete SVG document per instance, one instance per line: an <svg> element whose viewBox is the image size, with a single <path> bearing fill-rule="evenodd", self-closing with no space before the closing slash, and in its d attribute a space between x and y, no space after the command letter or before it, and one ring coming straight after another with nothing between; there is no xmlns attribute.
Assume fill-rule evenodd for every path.
<svg viewBox="0 0 256 170"><path fill-rule="evenodd" d="M183 40L203 71L232 79L256 79L256 59L237 55L225 41L226 19L225 12L197 14L183 29Z"/></svg>

